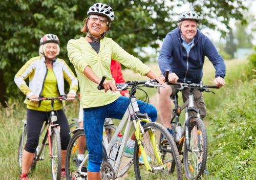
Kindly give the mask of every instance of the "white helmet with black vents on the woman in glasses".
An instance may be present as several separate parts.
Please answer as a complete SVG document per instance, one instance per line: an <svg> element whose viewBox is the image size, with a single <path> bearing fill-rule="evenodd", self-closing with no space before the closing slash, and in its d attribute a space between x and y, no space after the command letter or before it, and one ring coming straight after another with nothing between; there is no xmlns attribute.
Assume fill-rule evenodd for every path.
<svg viewBox="0 0 256 180"><path fill-rule="evenodd" d="M93 6L91 6L89 8L89 10L87 11L87 15L91 15L91 14L104 16L110 22L112 22L115 17L113 9L110 6L102 4L102 3L96 3Z"/></svg>

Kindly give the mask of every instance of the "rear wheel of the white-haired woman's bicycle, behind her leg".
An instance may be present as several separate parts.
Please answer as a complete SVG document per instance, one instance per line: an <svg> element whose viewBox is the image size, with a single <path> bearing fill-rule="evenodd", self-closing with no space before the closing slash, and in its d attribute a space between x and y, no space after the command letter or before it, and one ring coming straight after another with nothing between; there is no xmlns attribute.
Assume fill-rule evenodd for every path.
<svg viewBox="0 0 256 180"><path fill-rule="evenodd" d="M22 168L22 154L23 154L26 142L27 142L27 132L28 132L27 125L25 125L24 129L23 129L23 132L20 135L19 144L18 144L18 165L19 165L20 168ZM36 153L37 152L35 151L35 156L34 156L34 159L33 159L33 163L32 163L32 165L31 165L31 167L29 169L29 172L31 170L35 169L35 166L36 166L36 155L37 155Z"/></svg>

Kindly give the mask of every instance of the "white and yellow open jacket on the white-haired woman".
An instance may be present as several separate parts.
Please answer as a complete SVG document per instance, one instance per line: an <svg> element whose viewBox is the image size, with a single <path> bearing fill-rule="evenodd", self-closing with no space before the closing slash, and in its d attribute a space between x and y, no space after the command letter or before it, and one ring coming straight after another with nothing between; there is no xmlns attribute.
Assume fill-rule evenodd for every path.
<svg viewBox="0 0 256 180"><path fill-rule="evenodd" d="M35 95L40 96L40 93L44 87L45 78L47 75L47 66L45 63L45 57L33 57L27 61L23 67L17 72L14 77L14 81L20 91L22 91L27 97ZM60 95L64 95L64 78L70 85L70 92L76 94L78 89L78 80L74 73L71 71L67 63L63 59L56 59L53 62L53 72L57 79L57 86ZM25 79L29 77L29 86L27 86ZM31 102L29 100L24 101L26 104L32 106L38 106L38 103Z"/></svg>

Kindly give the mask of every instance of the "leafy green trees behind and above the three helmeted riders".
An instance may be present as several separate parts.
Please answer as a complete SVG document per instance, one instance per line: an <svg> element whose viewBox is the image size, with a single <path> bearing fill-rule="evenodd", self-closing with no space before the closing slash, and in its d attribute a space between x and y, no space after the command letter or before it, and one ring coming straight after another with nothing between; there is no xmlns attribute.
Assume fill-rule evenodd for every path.
<svg viewBox="0 0 256 180"><path fill-rule="evenodd" d="M228 25L229 18L243 20L246 9L240 0L187 0L165 1L103 0L115 11L115 21L109 36L126 51L137 56L135 48L157 48L157 39L176 27L172 20L173 6L189 3L203 17L202 26L215 28L209 19L217 19ZM38 41L46 33L60 38L59 57L67 60L67 42L77 38L81 21L95 2L90 0L6 0L0 2L0 102L5 105L7 96L20 94L13 78L18 69L31 57L38 55ZM236 6L234 6L236 5ZM171 17L171 18L170 18ZM143 59L142 59L143 60ZM69 61L67 60L69 63Z"/></svg>

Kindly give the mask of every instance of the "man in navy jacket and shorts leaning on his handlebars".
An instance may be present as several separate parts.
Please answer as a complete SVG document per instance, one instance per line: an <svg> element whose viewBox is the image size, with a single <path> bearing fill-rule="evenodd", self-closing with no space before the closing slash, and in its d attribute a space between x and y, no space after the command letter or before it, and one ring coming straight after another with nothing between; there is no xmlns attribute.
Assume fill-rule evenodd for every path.
<svg viewBox="0 0 256 180"><path fill-rule="evenodd" d="M159 67L161 73L169 71L168 81L199 83L203 76L204 57L207 56L216 70L214 83L221 87L225 84L225 63L218 54L214 44L198 28L199 16L195 11L186 11L179 15L178 27L165 36L159 54ZM174 86L166 85L159 88L158 109L163 126L170 134L174 134L170 126L172 116L172 104L170 96ZM183 102L188 99L189 89L182 91ZM201 118L206 116L206 107L203 95L199 90L195 91L195 106L200 109Z"/></svg>

